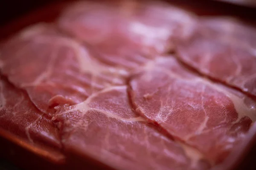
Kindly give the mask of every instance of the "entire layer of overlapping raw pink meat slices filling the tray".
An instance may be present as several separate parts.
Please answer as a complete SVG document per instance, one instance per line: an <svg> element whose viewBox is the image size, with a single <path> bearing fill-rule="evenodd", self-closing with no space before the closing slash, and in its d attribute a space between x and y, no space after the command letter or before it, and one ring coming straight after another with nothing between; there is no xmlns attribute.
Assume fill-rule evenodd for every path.
<svg viewBox="0 0 256 170"><path fill-rule="evenodd" d="M256 121L256 31L230 18L83 1L0 50L0 128L58 160L207 170Z"/></svg>

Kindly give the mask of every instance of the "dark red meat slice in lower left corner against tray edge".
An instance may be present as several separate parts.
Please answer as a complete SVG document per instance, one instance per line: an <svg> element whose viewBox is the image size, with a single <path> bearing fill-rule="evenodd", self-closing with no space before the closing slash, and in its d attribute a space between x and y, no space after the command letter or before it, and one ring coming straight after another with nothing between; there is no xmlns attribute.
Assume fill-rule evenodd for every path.
<svg viewBox="0 0 256 170"><path fill-rule="evenodd" d="M55 161L62 161L57 127L39 111L23 91L0 77L0 130L17 139L18 144ZM8 136L9 137L9 136ZM42 145L43 144L43 145ZM30 146L30 147L28 147Z"/></svg>

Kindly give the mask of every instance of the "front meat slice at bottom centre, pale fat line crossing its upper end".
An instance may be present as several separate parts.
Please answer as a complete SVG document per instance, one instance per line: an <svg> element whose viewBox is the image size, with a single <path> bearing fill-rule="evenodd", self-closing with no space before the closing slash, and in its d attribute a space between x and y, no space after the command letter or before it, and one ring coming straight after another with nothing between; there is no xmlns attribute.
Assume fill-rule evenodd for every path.
<svg viewBox="0 0 256 170"><path fill-rule="evenodd" d="M163 135L132 111L126 86L112 86L84 102L61 108L59 121L67 151L90 156L114 169L208 169L196 150Z"/></svg>

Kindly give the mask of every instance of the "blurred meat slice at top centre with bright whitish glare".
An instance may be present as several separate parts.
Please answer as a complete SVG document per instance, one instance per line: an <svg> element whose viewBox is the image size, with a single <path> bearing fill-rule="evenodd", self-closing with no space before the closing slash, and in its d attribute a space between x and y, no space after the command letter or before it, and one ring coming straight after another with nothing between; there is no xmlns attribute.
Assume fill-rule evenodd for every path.
<svg viewBox="0 0 256 170"><path fill-rule="evenodd" d="M117 0L75 3L58 23L63 31L90 44L104 62L136 68L170 50L173 37L188 36L194 19L164 3Z"/></svg>

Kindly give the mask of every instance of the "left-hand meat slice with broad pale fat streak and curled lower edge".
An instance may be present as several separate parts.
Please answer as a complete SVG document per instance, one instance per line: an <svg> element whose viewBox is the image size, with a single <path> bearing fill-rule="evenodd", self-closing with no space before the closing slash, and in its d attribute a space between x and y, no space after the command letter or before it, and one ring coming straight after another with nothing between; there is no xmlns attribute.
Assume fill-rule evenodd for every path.
<svg viewBox="0 0 256 170"><path fill-rule="evenodd" d="M84 45L47 24L26 28L6 42L0 66L43 112L80 103L109 85L122 85L127 76L122 69L98 62Z"/></svg>

